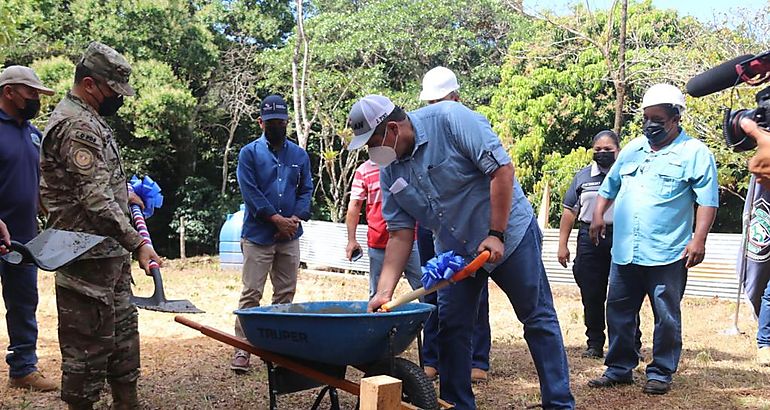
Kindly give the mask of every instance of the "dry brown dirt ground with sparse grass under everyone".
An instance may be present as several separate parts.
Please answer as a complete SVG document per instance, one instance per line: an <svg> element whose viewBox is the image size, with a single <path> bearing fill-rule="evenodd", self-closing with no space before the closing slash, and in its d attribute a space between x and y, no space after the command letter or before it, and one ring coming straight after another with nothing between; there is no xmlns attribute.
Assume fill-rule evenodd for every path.
<svg viewBox="0 0 770 410"><path fill-rule="evenodd" d="M187 263L169 261L163 269L167 297L187 298L206 311L190 315L200 323L232 332L232 310L238 303L240 273L220 271L215 259L195 259ZM137 295L149 295L150 278L135 269ZM295 301L361 300L367 295L364 276L301 272ZM404 284L399 291L406 291ZM266 294L270 295L270 287ZM684 351L675 376L673 390L661 397L641 393L643 366L636 372L637 383L609 390L594 390L586 382L601 374L601 360L583 359L582 306L577 289L554 286L553 293L570 360L572 391L578 408L583 409L770 409L770 369L760 369L753 359L756 351L756 323L744 306L741 309L742 335L727 336L734 305L716 299L688 298L684 302ZM263 299L263 303L269 300ZM539 402L537 375L516 320L505 295L490 282L490 320L494 339L490 380L475 386L481 409L523 409ZM40 273L40 369L58 379L61 356L56 335L56 304L53 276ZM3 320L4 322L4 320ZM148 409L265 409L268 408L267 374L264 364L251 373L236 376L229 370L232 348L207 338L173 321L173 315L140 311L142 377L140 397ZM649 362L652 348L652 314L642 311L644 353ZM353 336L353 335L351 335ZM0 326L0 344L7 343L5 324ZM414 348L404 354L417 361ZM0 373L7 374L0 363ZM348 378L360 378L348 371ZM0 377L0 408L63 409L58 393L32 393L12 390ZM317 390L281 396L283 409L309 408ZM354 408L355 397L340 392L344 408ZM107 392L97 408L109 408Z"/></svg>

